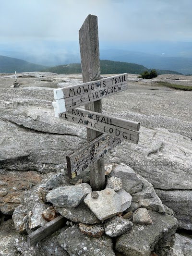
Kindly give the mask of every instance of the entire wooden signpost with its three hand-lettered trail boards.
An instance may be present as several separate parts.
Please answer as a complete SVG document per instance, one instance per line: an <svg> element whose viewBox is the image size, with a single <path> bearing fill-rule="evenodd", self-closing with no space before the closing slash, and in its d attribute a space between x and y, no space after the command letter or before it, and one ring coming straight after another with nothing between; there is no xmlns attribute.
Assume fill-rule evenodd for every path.
<svg viewBox="0 0 192 256"><path fill-rule="evenodd" d="M90 168L93 190L105 188L104 156L122 140L137 144L139 123L102 114L101 99L127 89L127 73L100 79L97 17L88 15L79 31L83 84L54 89L55 116L87 128L84 146L67 156L68 176ZM85 110L77 108L85 105ZM107 135L106 135L107 134Z"/></svg>

